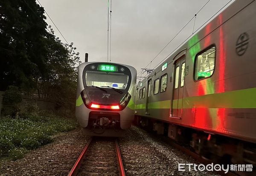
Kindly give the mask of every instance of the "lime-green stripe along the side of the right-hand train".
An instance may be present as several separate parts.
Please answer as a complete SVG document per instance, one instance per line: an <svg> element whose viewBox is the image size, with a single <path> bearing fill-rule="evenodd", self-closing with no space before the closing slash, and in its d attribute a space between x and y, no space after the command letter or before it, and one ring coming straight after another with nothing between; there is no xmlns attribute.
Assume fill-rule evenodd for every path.
<svg viewBox="0 0 256 176"><path fill-rule="evenodd" d="M256 108L256 88L213 93L173 100L174 109L183 108ZM138 104L137 109L145 109L146 104ZM148 104L148 109L169 109L171 100Z"/></svg>

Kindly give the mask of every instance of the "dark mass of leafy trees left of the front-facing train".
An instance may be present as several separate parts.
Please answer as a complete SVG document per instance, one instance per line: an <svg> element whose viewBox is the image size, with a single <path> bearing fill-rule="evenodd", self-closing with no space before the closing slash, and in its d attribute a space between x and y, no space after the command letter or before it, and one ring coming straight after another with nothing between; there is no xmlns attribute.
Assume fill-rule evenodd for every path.
<svg viewBox="0 0 256 176"><path fill-rule="evenodd" d="M16 86L74 111L79 53L54 35L44 13L36 0L1 1L0 91Z"/></svg>

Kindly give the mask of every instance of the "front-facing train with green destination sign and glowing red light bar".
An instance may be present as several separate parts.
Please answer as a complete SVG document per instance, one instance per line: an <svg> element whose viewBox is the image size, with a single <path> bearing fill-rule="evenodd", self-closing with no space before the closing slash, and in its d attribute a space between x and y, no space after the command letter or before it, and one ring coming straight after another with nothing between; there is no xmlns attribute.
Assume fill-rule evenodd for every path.
<svg viewBox="0 0 256 176"><path fill-rule="evenodd" d="M119 63L78 66L76 118L84 135L124 136L134 120L137 71Z"/></svg>

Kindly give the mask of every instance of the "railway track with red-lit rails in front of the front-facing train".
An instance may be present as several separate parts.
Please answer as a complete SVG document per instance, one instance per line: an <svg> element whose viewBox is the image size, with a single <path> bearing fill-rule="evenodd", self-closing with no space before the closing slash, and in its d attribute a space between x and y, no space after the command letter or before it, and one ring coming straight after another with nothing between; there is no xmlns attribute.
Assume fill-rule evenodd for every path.
<svg viewBox="0 0 256 176"><path fill-rule="evenodd" d="M90 138L68 176L125 176L117 139Z"/></svg>

